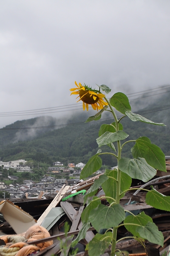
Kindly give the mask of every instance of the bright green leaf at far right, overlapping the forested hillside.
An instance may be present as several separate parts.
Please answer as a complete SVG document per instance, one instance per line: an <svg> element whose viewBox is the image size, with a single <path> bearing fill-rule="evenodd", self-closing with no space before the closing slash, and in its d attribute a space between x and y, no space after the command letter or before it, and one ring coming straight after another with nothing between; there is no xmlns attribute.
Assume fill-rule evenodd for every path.
<svg viewBox="0 0 170 256"><path fill-rule="evenodd" d="M160 171L166 170L165 155L161 149L152 144L147 137L139 137L136 139L136 144L131 148L134 158L143 157L147 163Z"/></svg>

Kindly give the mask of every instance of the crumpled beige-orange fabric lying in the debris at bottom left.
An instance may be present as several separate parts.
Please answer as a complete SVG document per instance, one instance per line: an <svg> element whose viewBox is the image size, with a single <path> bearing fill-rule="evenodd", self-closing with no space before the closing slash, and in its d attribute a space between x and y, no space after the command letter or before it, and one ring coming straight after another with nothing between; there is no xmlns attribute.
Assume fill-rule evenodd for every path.
<svg viewBox="0 0 170 256"><path fill-rule="evenodd" d="M28 245L26 242L33 242L47 237L50 237L49 232L45 228L37 225L32 226L26 233L20 236L1 236L0 239L6 242L6 246L0 247L0 256L27 256L34 251L43 250L52 245L53 241L43 242L37 245ZM11 244L12 241L14 244Z"/></svg>

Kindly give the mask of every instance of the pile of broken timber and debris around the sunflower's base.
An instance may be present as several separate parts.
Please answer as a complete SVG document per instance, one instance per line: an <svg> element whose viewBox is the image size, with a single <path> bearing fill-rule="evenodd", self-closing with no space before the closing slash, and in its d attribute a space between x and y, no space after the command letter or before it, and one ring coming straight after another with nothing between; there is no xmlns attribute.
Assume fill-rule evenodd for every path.
<svg viewBox="0 0 170 256"><path fill-rule="evenodd" d="M167 163L167 169L169 166L170 162ZM153 185L157 191L169 196L170 175L168 174L170 173L167 172L167 176L161 176L158 171L157 174L157 179L152 180L147 184L137 185L136 182L136 186L133 186L133 188L136 188L136 192L126 193L120 200L120 204L124 209L133 211L133 213L136 211L136 214L138 214L139 212L144 211L149 215L159 230L163 233L164 247L162 248L160 245L151 244L150 242L145 241L145 251L144 247L135 239L125 239L116 245L117 249L128 251L131 256L170 255L170 212L158 210L147 205L145 203L146 193L140 191L141 186L147 186L147 188L149 188L150 185ZM53 243L51 242L51 244L48 244L48 246L43 249L41 248L41 250L40 248L37 250L37 247L34 248L36 249L34 251L37 252L36 255L51 256L54 254L66 256L68 253L71 255L71 242L76 238L79 230L82 228L81 213L86 207L86 204L83 205L83 193L91 188L91 185L94 184L96 179L99 179L100 175L102 174L98 174L85 181L80 181L73 186L64 184L58 193L51 193L50 196L49 193L47 193L48 199L43 197L44 192L40 192L38 198L34 199L28 199L27 195L25 195L25 199L11 199L11 201L3 200L0 203L0 213L3 213L6 222L3 222L0 225L0 231L8 233L8 230L10 229L11 231L12 228L14 233L18 234L26 232L26 230L29 230L31 227L42 227L49 232L50 236L41 239L37 236L37 239L34 239L34 241L28 240L24 247L33 246L30 248L34 248L37 245L53 241ZM101 188L99 188L96 195L102 197L102 204L106 205L108 203L106 199L103 198L105 193ZM64 230L64 224L66 222L70 225L70 230L67 234L65 234ZM85 245L93 239L95 234L96 230L93 227L88 229L85 239L80 240L78 243L79 251L77 256L88 255L88 251L85 253ZM117 236L120 238L128 236L128 231L124 226L118 229ZM0 239L2 239L2 237L0 237ZM62 247L64 242L67 244L66 249L63 249ZM18 252L17 255L19 255ZM28 255L30 251L26 250L24 253L25 254L22 254L23 256ZM110 253L111 251L108 248L104 255L110 255Z"/></svg>

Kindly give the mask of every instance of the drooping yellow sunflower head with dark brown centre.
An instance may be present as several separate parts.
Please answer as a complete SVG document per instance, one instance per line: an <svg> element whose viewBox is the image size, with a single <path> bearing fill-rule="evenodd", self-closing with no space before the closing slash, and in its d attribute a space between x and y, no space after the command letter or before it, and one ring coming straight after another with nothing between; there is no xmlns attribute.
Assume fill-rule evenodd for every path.
<svg viewBox="0 0 170 256"><path fill-rule="evenodd" d="M77 88L70 89L70 91L72 91L71 95L79 94L79 96L78 96L79 100L77 102L82 100L83 110L85 110L85 108L86 108L88 111L88 105L91 105L92 108L94 110L97 109L97 111L104 108L105 105L108 105L108 103L103 100L105 95L100 93L100 91L92 89L92 88L88 87L88 85L83 86L83 85L81 85L80 82L79 82L79 84L77 84L76 81L75 81L75 85L77 86Z"/></svg>

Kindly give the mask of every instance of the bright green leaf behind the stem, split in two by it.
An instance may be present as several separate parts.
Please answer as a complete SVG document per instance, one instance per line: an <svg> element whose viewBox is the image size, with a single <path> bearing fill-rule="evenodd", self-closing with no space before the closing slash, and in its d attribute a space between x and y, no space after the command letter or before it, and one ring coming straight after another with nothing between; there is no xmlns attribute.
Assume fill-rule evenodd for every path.
<svg viewBox="0 0 170 256"><path fill-rule="evenodd" d="M113 199L116 199L116 188L117 188L117 182L114 179L117 179L117 170L107 170L105 171L106 175L108 176L108 180L106 180L102 184L102 189L105 192L105 196L112 197ZM114 178L114 179L113 179ZM132 183L132 179L130 176L128 176L125 173L121 173L121 182L120 182L120 191L121 193L127 189L130 188L130 185ZM121 198L125 195L125 193L122 194ZM113 201L111 198L106 198L106 200L111 204Z"/></svg>

